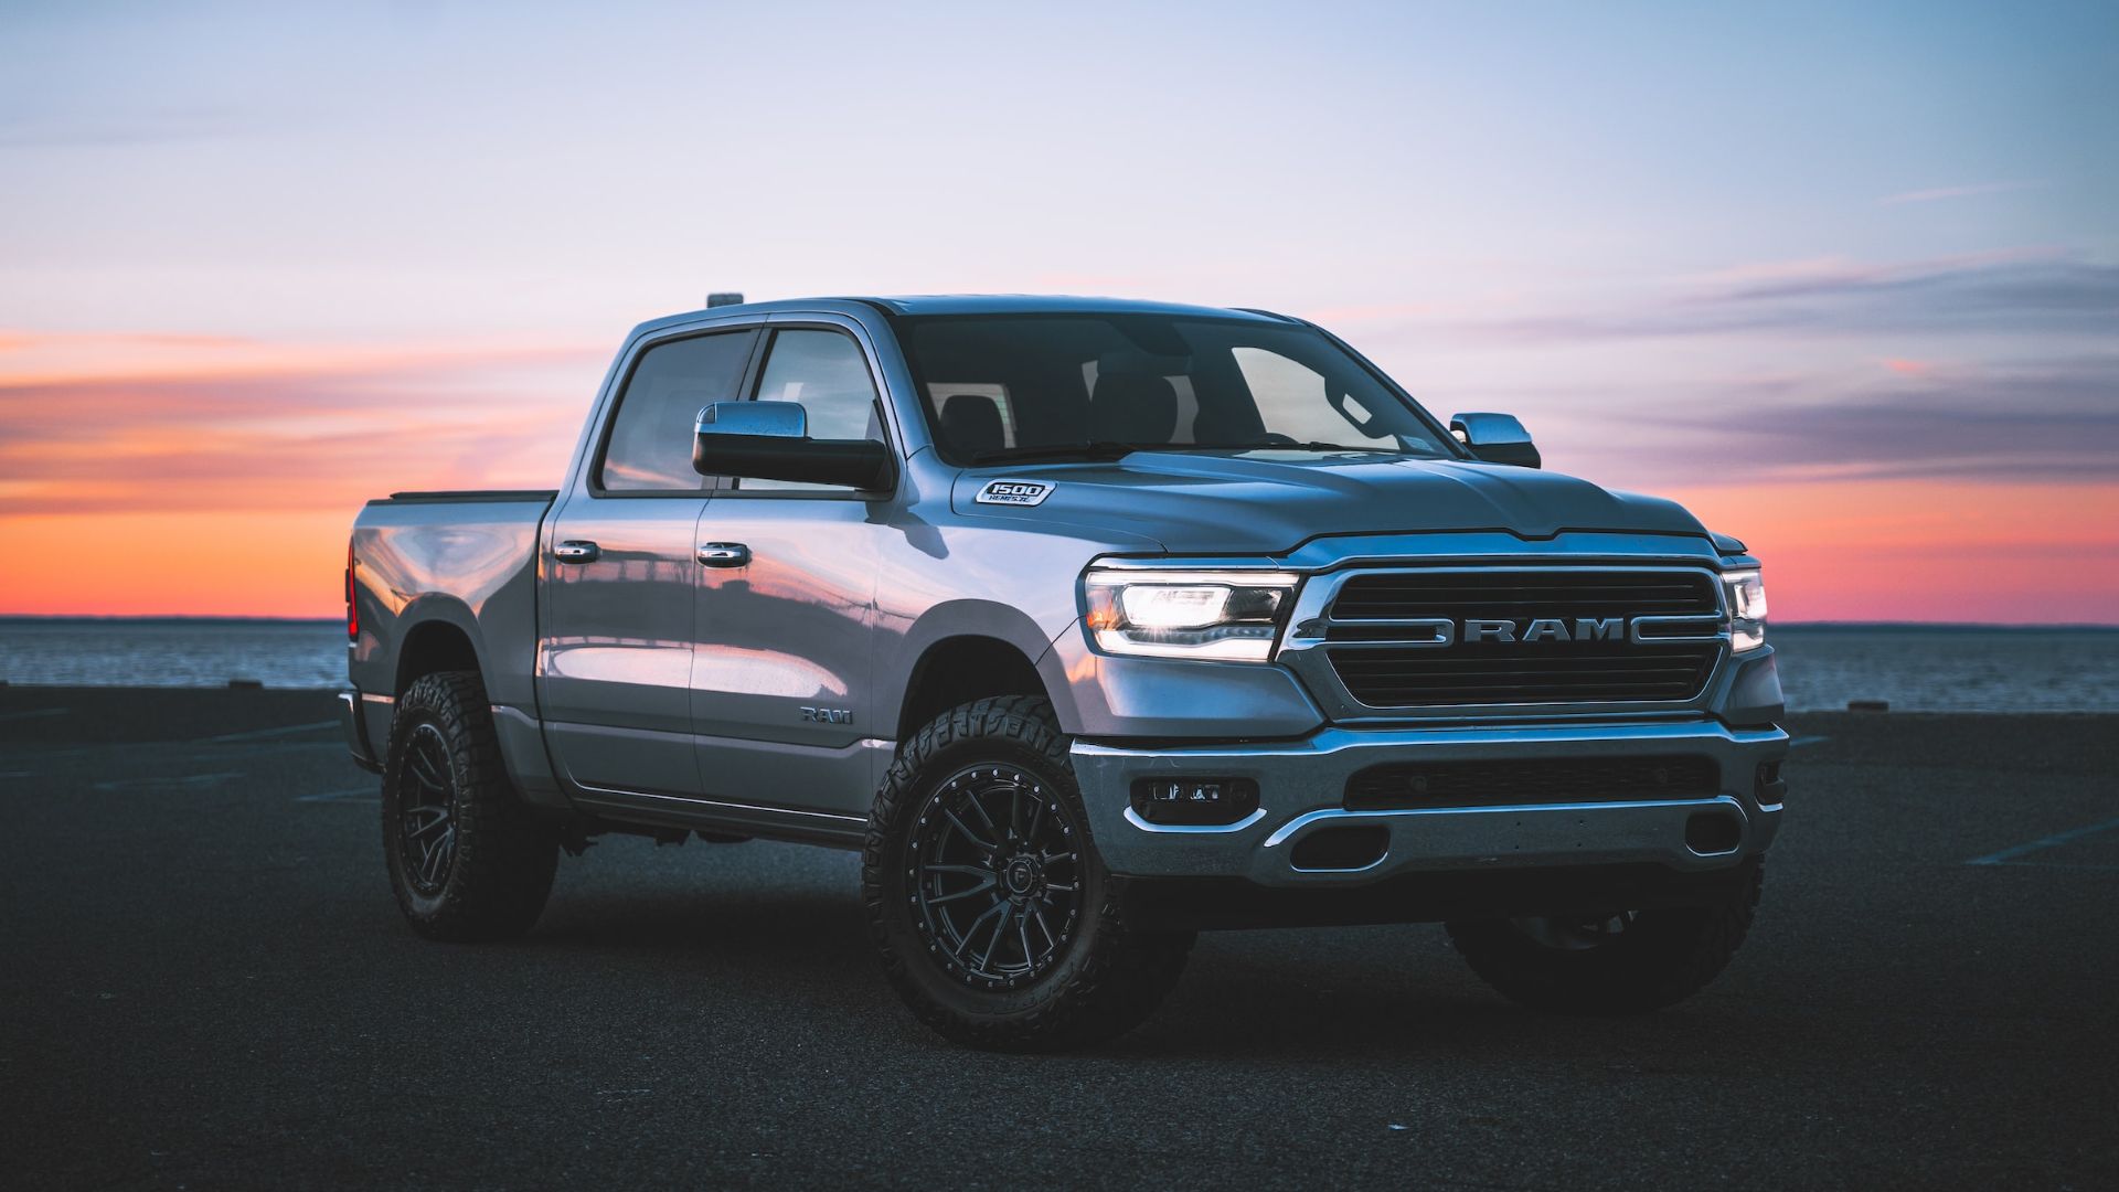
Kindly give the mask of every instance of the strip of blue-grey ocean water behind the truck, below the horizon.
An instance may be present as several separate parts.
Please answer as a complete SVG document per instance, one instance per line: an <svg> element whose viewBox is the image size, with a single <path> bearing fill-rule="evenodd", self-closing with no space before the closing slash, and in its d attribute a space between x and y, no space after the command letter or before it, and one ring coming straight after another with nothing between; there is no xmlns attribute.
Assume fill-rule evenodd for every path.
<svg viewBox="0 0 2119 1192"><path fill-rule="evenodd" d="M2119 713L2119 630L1776 626L1793 711L1888 700L1924 713ZM15 685L265 687L345 683L339 621L0 617Z"/></svg>

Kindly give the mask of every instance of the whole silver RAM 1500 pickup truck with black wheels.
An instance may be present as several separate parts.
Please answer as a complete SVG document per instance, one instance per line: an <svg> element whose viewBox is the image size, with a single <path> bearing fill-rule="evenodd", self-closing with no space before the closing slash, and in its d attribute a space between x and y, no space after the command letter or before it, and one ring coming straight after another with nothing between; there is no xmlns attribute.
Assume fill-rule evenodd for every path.
<svg viewBox="0 0 2119 1192"><path fill-rule="evenodd" d="M983 1048L1138 1024L1218 927L1445 923L1521 1003L1661 1007L1786 789L1742 543L1252 310L644 322L559 490L369 503L345 600L413 929L530 929L604 831L856 848Z"/></svg>

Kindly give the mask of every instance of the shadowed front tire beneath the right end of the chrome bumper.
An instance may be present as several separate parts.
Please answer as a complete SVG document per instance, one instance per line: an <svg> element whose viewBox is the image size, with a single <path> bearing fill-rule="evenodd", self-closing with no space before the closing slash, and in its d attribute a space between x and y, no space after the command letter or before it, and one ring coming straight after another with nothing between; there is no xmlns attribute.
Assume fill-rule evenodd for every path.
<svg viewBox="0 0 2119 1192"><path fill-rule="evenodd" d="M1646 1014L1699 993L1729 965L1759 908L1765 863L1748 870L1719 904L1636 912L1589 948L1543 944L1509 918L1445 929L1471 969L1513 1001L1557 1014Z"/></svg>

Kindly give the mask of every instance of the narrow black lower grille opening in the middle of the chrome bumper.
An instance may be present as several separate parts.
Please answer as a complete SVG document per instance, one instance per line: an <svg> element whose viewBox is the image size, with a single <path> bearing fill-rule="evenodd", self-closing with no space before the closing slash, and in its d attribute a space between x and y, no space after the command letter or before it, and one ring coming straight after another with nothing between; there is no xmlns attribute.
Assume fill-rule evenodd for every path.
<svg viewBox="0 0 2119 1192"><path fill-rule="evenodd" d="M1392 761L1346 783L1352 810L1691 800L1721 791L1712 757L1538 757Z"/></svg>

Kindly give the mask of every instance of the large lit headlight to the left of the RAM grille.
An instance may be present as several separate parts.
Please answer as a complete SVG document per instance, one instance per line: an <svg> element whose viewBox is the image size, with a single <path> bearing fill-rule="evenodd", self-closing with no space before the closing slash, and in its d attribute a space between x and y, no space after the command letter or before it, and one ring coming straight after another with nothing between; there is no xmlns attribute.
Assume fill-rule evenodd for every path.
<svg viewBox="0 0 2119 1192"><path fill-rule="evenodd" d="M1091 568L1085 624L1108 653L1267 662L1299 581L1284 571Z"/></svg>

